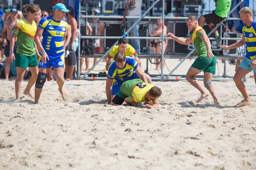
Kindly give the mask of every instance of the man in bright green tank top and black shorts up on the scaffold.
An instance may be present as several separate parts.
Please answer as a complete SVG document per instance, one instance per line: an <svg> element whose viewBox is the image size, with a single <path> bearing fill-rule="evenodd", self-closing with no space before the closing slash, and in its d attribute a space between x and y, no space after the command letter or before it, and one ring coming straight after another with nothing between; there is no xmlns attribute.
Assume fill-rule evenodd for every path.
<svg viewBox="0 0 256 170"><path fill-rule="evenodd" d="M199 26L204 28L204 21L208 24L209 28L212 30L218 23L220 23L224 18L227 17L230 7L231 0L214 0L215 1L215 10L210 14L202 15L199 18ZM218 30L213 31L216 37L216 46L220 45L221 37L218 34Z"/></svg>

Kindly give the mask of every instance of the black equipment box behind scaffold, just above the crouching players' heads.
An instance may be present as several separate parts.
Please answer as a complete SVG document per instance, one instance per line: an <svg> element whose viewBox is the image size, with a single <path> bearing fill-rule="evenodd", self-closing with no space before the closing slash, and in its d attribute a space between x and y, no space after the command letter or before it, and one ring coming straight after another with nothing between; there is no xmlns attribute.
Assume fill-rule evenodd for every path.
<svg viewBox="0 0 256 170"><path fill-rule="evenodd" d="M121 37L125 30L121 30L121 23L105 23L106 36ZM105 39L105 49L110 48L118 39ZM117 45L117 43L116 43Z"/></svg>

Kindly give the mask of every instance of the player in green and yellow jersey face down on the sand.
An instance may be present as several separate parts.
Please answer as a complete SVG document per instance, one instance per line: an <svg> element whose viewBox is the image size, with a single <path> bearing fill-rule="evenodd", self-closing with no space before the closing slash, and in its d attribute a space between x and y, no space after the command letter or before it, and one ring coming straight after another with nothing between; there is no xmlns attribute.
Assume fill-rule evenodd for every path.
<svg viewBox="0 0 256 170"><path fill-rule="evenodd" d="M113 98L111 105L122 105L126 102L128 105L139 105L139 102L146 102L146 108L153 108L159 105L159 97L162 95L160 88L141 79L132 79L124 82L121 88Z"/></svg>

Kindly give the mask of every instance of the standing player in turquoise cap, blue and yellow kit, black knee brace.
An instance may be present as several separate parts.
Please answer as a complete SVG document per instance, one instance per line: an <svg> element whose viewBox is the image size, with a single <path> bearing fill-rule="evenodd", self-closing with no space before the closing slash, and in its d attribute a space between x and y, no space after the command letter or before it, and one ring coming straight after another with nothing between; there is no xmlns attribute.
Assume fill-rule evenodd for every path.
<svg viewBox="0 0 256 170"><path fill-rule="evenodd" d="M67 96L62 90L64 85L64 45L67 34L67 21L63 20L63 17L69 10L62 3L57 3L53 10L54 14L52 16L44 17L40 20L35 34L35 43L41 52L38 62L39 73L35 83L36 104L38 103L42 88L47 79L47 73L51 66L55 70L59 92L64 100ZM39 39L41 36L43 36L42 43Z"/></svg>

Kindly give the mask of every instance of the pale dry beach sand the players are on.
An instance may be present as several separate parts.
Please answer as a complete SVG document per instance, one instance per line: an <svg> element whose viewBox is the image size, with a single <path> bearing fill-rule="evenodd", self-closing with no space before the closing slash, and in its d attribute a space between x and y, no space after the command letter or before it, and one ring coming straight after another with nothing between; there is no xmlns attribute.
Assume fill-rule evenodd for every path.
<svg viewBox="0 0 256 170"><path fill-rule="evenodd" d="M166 60L169 69L178 62ZM186 74L192 62L174 74ZM234 69L227 65L227 74ZM200 94L186 81L154 81L163 90L154 109L106 105L105 81L86 80L65 82L67 102L55 81L45 84L40 104L28 96L14 102L14 82L0 80L0 170L256 169L254 79L245 83L252 105L243 108L233 107L242 99L233 81L213 82L221 106L211 96L197 104Z"/></svg>

